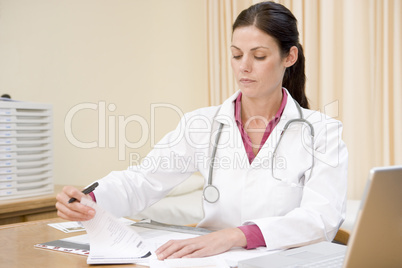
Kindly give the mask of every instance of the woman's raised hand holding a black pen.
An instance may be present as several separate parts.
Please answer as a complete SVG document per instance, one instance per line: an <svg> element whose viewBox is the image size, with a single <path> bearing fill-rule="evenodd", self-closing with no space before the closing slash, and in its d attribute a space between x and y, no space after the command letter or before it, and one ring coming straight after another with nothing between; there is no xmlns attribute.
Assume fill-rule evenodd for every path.
<svg viewBox="0 0 402 268"><path fill-rule="evenodd" d="M68 203L70 198L74 197L77 201ZM80 200L85 198L80 190L65 186L63 191L56 196L57 215L69 221L87 221L95 216L95 210L80 203Z"/></svg>

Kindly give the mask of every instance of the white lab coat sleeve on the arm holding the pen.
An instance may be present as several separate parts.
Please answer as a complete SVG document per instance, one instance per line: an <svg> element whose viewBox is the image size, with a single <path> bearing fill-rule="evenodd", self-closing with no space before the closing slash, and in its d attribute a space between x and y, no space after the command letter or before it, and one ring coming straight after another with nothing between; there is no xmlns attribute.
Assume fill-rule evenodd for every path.
<svg viewBox="0 0 402 268"><path fill-rule="evenodd" d="M99 180L97 203L118 217L131 216L163 198L196 171L194 153L185 138L186 116L142 160Z"/></svg>

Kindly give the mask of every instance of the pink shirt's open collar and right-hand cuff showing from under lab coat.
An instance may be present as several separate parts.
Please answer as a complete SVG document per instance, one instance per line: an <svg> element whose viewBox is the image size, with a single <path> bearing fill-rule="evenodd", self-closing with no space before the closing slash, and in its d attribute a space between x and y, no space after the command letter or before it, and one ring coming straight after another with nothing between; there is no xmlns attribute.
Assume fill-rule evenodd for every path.
<svg viewBox="0 0 402 268"><path fill-rule="evenodd" d="M272 133L272 130L275 128L275 126L278 124L279 120L281 119L283 110L285 109L286 102L288 99L288 95L284 89L282 89L282 102L281 106L279 107L279 110L276 112L275 117L269 121L267 124L267 127L264 131L264 135L262 137L259 150L261 147L264 145L264 143L267 141L269 135ZM237 127L239 128L241 138L243 140L244 148L246 149L246 153L248 156L248 160L250 164L253 162L255 158L255 154L253 152L253 147L251 143L250 137L247 135L247 132L244 129L243 122L241 121L241 97L242 93L240 92L239 96L235 100L235 120L237 123ZM244 235L246 236L247 239L247 246L246 249L253 249L257 247L263 247L266 246L264 236L261 233L260 228L255 225L243 225L238 227Z"/></svg>

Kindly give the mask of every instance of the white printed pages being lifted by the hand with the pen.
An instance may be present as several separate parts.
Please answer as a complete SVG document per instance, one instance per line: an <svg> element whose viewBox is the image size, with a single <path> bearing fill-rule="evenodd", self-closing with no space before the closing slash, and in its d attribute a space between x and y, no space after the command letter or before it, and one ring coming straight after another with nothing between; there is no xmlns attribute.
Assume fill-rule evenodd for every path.
<svg viewBox="0 0 402 268"><path fill-rule="evenodd" d="M90 199L83 198L81 203L96 210L92 220L82 222L90 242L88 264L138 263L155 258L133 228L119 222Z"/></svg>

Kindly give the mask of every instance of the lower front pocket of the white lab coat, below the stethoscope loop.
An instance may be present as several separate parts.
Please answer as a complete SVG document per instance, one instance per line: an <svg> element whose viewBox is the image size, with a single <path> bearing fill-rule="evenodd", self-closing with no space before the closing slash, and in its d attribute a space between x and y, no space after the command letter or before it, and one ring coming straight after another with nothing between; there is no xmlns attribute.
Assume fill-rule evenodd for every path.
<svg viewBox="0 0 402 268"><path fill-rule="evenodd" d="M280 184L274 191L275 216L284 216L295 208L300 207L303 187Z"/></svg>

